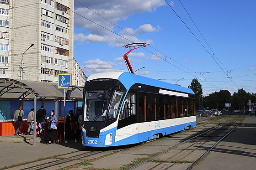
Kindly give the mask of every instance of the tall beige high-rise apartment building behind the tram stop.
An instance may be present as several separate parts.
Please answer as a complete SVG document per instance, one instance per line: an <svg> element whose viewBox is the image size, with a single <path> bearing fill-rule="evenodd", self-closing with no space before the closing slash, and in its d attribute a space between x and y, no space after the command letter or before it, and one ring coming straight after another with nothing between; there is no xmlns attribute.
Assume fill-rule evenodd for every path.
<svg viewBox="0 0 256 170"><path fill-rule="evenodd" d="M57 82L71 73L72 85L83 86L73 11L74 0L0 0L0 77Z"/></svg>

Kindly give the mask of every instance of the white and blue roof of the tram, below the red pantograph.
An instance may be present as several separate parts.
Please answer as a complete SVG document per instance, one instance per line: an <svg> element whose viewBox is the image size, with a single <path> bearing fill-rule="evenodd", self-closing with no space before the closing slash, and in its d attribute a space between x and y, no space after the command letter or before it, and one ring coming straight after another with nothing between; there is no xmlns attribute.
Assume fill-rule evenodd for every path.
<svg viewBox="0 0 256 170"><path fill-rule="evenodd" d="M146 84L146 85L155 86L159 88L165 88L169 90L175 90L179 92L194 94L193 90L190 88L185 88L176 84L171 84L168 82L162 82L152 78L139 76L129 72L104 72L104 73L91 74L90 76L88 76L86 81L90 81L93 79L101 79L101 78L120 80L123 83L123 85L127 87L132 86L134 83L141 83L141 84Z"/></svg>

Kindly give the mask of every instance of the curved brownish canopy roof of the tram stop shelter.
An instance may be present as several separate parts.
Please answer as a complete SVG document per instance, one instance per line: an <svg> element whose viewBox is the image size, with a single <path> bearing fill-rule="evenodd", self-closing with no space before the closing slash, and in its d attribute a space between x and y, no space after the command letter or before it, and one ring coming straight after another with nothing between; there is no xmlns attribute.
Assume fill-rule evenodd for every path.
<svg viewBox="0 0 256 170"><path fill-rule="evenodd" d="M34 95L37 98L64 98L64 89L58 89L57 83L0 78L0 98L32 99ZM82 96L83 92L78 89L71 93L71 98L80 99Z"/></svg>

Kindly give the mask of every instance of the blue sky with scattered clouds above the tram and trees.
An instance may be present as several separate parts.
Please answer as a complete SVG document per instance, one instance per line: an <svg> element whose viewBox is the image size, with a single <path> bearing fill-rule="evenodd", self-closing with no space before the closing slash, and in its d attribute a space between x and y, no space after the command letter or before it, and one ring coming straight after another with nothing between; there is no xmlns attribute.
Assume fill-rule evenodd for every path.
<svg viewBox="0 0 256 170"><path fill-rule="evenodd" d="M74 57L86 76L133 71L203 96L256 93L255 0L74 0ZM142 68L144 67L144 68ZM142 69L140 69L142 68Z"/></svg>

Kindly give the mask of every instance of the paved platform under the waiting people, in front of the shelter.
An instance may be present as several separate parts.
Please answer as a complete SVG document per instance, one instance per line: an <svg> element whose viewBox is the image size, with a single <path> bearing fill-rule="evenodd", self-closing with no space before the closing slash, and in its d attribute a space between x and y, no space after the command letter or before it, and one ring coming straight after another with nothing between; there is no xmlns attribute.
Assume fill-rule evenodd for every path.
<svg viewBox="0 0 256 170"><path fill-rule="evenodd" d="M25 138L27 140L24 141ZM62 141L60 144L48 145L40 143L40 141L44 142L40 137L36 138L36 146L33 146L32 135L0 136L0 168L85 149L81 144L81 140L78 140L77 143L74 140L69 140L68 144L64 144Z"/></svg>

